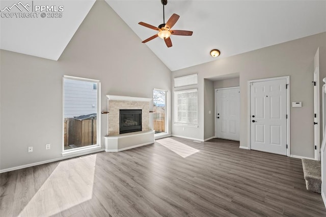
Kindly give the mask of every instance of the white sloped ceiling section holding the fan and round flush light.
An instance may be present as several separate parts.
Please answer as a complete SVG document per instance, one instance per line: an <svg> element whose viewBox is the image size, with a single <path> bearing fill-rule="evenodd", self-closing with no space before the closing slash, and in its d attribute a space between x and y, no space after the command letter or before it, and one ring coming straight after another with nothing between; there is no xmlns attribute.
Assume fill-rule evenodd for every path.
<svg viewBox="0 0 326 217"><path fill-rule="evenodd" d="M163 22L160 0L106 2L140 42L156 31L138 22ZM209 55L213 48L224 58L326 31L325 1L168 0L166 20L173 13L180 15L173 29L193 31L193 36L171 36L170 48L160 38L146 43L172 71L216 60Z"/></svg>

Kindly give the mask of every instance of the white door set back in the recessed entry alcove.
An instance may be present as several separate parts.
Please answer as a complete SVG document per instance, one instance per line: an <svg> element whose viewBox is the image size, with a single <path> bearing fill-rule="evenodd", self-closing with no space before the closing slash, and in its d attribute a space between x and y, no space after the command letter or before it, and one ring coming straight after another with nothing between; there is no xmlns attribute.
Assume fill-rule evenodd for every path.
<svg viewBox="0 0 326 217"><path fill-rule="evenodd" d="M216 137L239 141L240 88L216 90Z"/></svg>

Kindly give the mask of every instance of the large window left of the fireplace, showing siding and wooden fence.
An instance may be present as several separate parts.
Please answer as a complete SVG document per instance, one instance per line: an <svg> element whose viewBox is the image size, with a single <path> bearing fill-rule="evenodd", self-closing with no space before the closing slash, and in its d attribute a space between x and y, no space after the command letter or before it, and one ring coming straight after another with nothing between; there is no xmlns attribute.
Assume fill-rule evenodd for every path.
<svg viewBox="0 0 326 217"><path fill-rule="evenodd" d="M99 81L63 78L63 150L99 145Z"/></svg>

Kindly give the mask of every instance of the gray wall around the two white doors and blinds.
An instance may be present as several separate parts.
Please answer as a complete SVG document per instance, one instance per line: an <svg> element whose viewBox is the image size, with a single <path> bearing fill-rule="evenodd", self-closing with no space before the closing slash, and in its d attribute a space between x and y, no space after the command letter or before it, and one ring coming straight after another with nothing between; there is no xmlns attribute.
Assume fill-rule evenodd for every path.
<svg viewBox="0 0 326 217"><path fill-rule="evenodd" d="M319 47L320 78L326 76L326 33L297 39L274 46L242 53L228 58L181 69L173 77L198 73L199 127L182 131L172 125L173 134L203 140L205 123L204 78L239 73L240 85L240 146L248 147L248 96L247 82L252 79L290 76L290 101L302 101L303 107L290 108L291 154L313 157L313 71L314 55ZM172 100L173 103L173 100Z"/></svg>

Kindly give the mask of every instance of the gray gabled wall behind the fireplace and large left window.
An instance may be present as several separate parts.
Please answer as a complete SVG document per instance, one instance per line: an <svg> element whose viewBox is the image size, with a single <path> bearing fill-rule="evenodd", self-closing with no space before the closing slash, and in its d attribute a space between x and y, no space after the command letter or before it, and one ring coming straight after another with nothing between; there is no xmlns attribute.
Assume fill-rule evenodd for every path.
<svg viewBox="0 0 326 217"><path fill-rule="evenodd" d="M100 80L102 111L106 94L152 98L158 88L171 99L171 71L141 41L97 1L58 61L1 50L0 169L61 158L64 75ZM106 133L101 115L102 138Z"/></svg>

